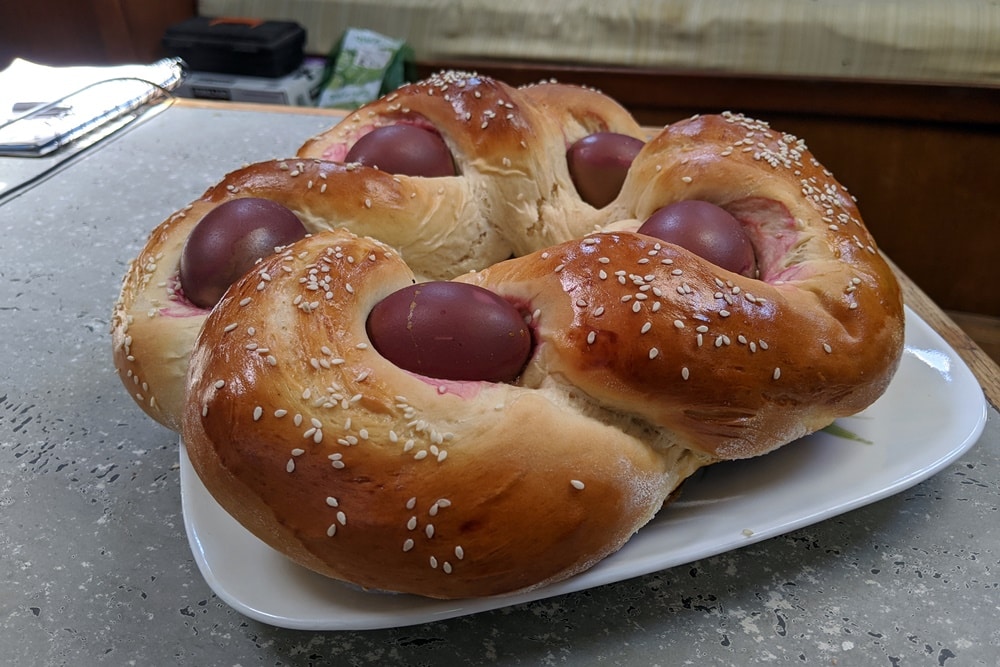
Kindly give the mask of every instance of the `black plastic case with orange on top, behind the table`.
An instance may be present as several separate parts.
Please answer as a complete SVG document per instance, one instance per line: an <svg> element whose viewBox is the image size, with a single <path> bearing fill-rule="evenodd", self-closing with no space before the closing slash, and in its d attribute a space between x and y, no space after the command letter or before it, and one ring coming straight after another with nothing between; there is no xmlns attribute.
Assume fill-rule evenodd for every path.
<svg viewBox="0 0 1000 667"><path fill-rule="evenodd" d="M302 64L305 41L292 21L197 16L167 28L163 48L198 72L280 77Z"/></svg>

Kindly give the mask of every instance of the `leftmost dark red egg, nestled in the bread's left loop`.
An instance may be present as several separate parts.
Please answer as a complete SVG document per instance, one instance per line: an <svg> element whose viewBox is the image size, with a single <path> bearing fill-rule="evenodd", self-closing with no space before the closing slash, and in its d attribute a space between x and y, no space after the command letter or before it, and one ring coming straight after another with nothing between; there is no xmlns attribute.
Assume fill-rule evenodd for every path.
<svg viewBox="0 0 1000 667"><path fill-rule="evenodd" d="M184 296L211 308L257 262L306 235L289 209L255 197L219 204L195 226L181 253Z"/></svg>

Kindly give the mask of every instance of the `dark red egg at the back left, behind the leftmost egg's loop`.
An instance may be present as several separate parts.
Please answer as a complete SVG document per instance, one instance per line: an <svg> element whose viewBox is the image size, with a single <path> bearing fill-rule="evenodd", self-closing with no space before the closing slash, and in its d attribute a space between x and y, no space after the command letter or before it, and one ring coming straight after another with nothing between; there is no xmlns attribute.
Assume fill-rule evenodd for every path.
<svg viewBox="0 0 1000 667"><path fill-rule="evenodd" d="M386 125L372 130L351 146L345 160L405 176L456 173L455 160L441 135L416 125Z"/></svg>

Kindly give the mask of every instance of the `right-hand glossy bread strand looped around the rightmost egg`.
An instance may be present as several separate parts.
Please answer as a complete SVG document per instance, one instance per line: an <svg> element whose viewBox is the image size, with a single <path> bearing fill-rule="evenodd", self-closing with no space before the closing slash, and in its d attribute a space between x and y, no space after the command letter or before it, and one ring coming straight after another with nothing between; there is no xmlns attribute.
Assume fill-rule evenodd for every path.
<svg viewBox="0 0 1000 667"><path fill-rule="evenodd" d="M631 233L683 199L741 220L759 279ZM883 393L903 344L899 286L853 200L797 139L742 116L674 124L616 205L617 231L460 278L532 304L529 375L565 378L721 459L768 452Z"/></svg>

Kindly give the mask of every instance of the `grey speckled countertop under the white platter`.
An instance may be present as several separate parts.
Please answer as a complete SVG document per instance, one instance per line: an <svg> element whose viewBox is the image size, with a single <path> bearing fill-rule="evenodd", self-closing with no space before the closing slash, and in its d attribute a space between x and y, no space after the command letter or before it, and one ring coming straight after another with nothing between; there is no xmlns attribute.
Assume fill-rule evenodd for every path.
<svg viewBox="0 0 1000 667"><path fill-rule="evenodd" d="M1000 415L931 479L809 528L447 621L306 632L202 579L177 438L108 335L153 226L330 119L175 106L0 204L0 662L10 665L1000 665ZM0 181L19 168L0 162Z"/></svg>

